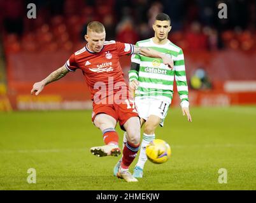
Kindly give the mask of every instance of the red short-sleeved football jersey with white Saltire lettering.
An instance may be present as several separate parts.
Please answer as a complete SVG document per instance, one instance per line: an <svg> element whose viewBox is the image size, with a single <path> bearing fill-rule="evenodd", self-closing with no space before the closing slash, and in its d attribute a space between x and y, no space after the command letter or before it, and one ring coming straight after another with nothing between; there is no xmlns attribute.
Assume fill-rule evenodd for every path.
<svg viewBox="0 0 256 203"><path fill-rule="evenodd" d="M90 51L86 45L71 55L65 65L72 72L76 69L82 70L93 100L94 94L99 91L97 86L101 86L101 84L106 85L107 91L113 89L108 92L108 96L118 91L113 86L117 82L125 82L119 58L123 55L131 55L133 50L132 44L115 41L105 41L103 49L99 53ZM126 84L125 86L127 88ZM103 87L101 86L101 89Z"/></svg>

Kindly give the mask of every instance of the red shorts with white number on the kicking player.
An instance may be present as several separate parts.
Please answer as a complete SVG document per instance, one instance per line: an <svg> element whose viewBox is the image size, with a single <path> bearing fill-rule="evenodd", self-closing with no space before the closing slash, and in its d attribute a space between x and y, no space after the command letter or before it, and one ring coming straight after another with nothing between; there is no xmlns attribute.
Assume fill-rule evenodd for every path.
<svg viewBox="0 0 256 203"><path fill-rule="evenodd" d="M107 114L113 117L117 122L119 121L120 127L124 129L125 122L131 117L138 117L138 112L135 108L133 100L125 100L120 104L113 103L113 104L92 104L93 111L92 111L92 122L97 114Z"/></svg>

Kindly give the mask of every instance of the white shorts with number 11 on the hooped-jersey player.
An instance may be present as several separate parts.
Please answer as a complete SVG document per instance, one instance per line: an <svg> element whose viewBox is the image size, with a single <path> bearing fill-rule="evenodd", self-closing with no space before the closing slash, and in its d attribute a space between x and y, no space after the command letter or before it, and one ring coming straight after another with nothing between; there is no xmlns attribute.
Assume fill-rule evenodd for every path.
<svg viewBox="0 0 256 203"><path fill-rule="evenodd" d="M157 115L160 117L160 126L164 126L164 119L171 103L163 101L158 98L134 98L134 102L142 119L148 120L150 115Z"/></svg>

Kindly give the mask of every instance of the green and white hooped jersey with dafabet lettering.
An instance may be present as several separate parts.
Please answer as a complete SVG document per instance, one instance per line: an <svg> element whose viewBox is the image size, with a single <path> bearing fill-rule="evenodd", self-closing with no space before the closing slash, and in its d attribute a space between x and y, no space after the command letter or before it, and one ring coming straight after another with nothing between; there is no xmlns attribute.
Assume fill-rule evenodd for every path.
<svg viewBox="0 0 256 203"><path fill-rule="evenodd" d="M188 86L182 49L169 40L166 44L155 44L152 38L138 41L136 45L171 55L174 60L174 69L169 69L160 58L132 55L131 61L139 64L139 72L136 70L129 71L129 81L134 79L139 81L135 96L140 98L157 97L162 101L171 103L175 78L181 106L188 107Z"/></svg>

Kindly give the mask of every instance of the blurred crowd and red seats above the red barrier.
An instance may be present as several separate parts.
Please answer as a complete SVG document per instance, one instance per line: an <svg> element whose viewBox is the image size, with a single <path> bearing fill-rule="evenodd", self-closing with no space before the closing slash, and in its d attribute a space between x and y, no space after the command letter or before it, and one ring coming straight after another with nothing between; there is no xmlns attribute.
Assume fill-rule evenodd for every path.
<svg viewBox="0 0 256 203"><path fill-rule="evenodd" d="M29 3L36 19L27 18ZM220 3L227 19L218 18ZM153 36L153 20L164 12L173 26L169 39L183 49L255 51L255 7L255 0L0 0L0 25L6 51L71 50L92 20L103 22L107 40L136 43Z"/></svg>

